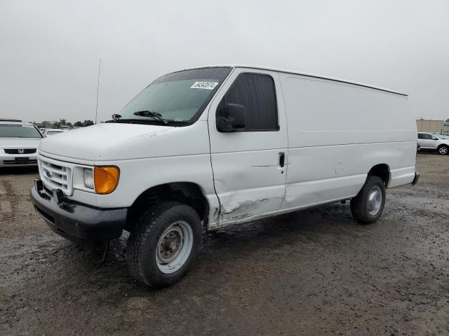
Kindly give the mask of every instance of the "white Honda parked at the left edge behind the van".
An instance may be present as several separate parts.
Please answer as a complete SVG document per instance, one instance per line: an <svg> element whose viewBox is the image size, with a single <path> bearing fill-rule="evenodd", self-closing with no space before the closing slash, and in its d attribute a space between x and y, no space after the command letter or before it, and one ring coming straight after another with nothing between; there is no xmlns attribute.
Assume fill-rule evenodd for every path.
<svg viewBox="0 0 449 336"><path fill-rule="evenodd" d="M21 120L0 119L0 167L37 165L39 129Z"/></svg>

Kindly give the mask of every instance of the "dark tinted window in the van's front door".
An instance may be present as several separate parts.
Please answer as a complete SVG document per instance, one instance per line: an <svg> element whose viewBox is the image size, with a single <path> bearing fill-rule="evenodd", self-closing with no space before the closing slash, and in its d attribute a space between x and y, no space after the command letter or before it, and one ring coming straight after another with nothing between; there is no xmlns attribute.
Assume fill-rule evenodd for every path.
<svg viewBox="0 0 449 336"><path fill-rule="evenodd" d="M276 131L278 113L274 80L271 76L243 73L220 102L217 114L225 116L225 104L240 104L246 109L247 131Z"/></svg>

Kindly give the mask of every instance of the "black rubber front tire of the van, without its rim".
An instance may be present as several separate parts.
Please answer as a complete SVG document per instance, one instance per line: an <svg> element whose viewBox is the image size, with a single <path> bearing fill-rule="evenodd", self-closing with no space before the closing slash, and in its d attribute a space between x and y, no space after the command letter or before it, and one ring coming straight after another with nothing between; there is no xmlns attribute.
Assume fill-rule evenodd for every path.
<svg viewBox="0 0 449 336"><path fill-rule="evenodd" d="M159 239L166 230L170 230L168 228L173 227L173 223L180 221L188 223L192 228L192 250L179 269L173 273L165 273L159 269L161 264L156 261ZM187 273L196 259L201 244L201 233L201 220L191 207L179 202L156 204L140 216L135 228L130 232L126 248L126 261L130 273L148 286L173 285ZM161 245L159 247L161 248Z"/></svg>

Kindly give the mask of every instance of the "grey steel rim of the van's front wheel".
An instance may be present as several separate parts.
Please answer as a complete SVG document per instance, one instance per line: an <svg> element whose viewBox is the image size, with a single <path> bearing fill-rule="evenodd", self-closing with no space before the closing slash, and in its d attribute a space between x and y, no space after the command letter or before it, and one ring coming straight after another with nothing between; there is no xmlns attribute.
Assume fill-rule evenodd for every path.
<svg viewBox="0 0 449 336"><path fill-rule="evenodd" d="M177 221L163 232L156 246L156 264L165 274L176 272L185 264L194 245L189 223Z"/></svg>

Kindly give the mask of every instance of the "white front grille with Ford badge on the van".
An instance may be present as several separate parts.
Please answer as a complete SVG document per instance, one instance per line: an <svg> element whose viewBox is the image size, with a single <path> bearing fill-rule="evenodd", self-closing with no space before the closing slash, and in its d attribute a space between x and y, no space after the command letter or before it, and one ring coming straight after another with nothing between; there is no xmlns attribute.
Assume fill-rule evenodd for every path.
<svg viewBox="0 0 449 336"><path fill-rule="evenodd" d="M39 157L39 173L49 190L60 189L66 195L72 193L72 168L67 162Z"/></svg>

